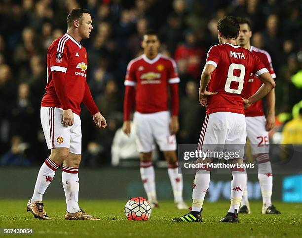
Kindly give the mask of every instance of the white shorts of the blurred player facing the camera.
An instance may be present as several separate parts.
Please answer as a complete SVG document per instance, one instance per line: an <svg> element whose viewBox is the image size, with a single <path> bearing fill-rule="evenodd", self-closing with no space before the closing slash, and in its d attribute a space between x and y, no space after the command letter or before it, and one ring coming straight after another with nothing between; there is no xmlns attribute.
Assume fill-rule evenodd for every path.
<svg viewBox="0 0 302 238"><path fill-rule="evenodd" d="M134 113L136 127L136 145L139 152L151 152L154 141L161 151L176 150L176 137L170 134L170 113Z"/></svg>

